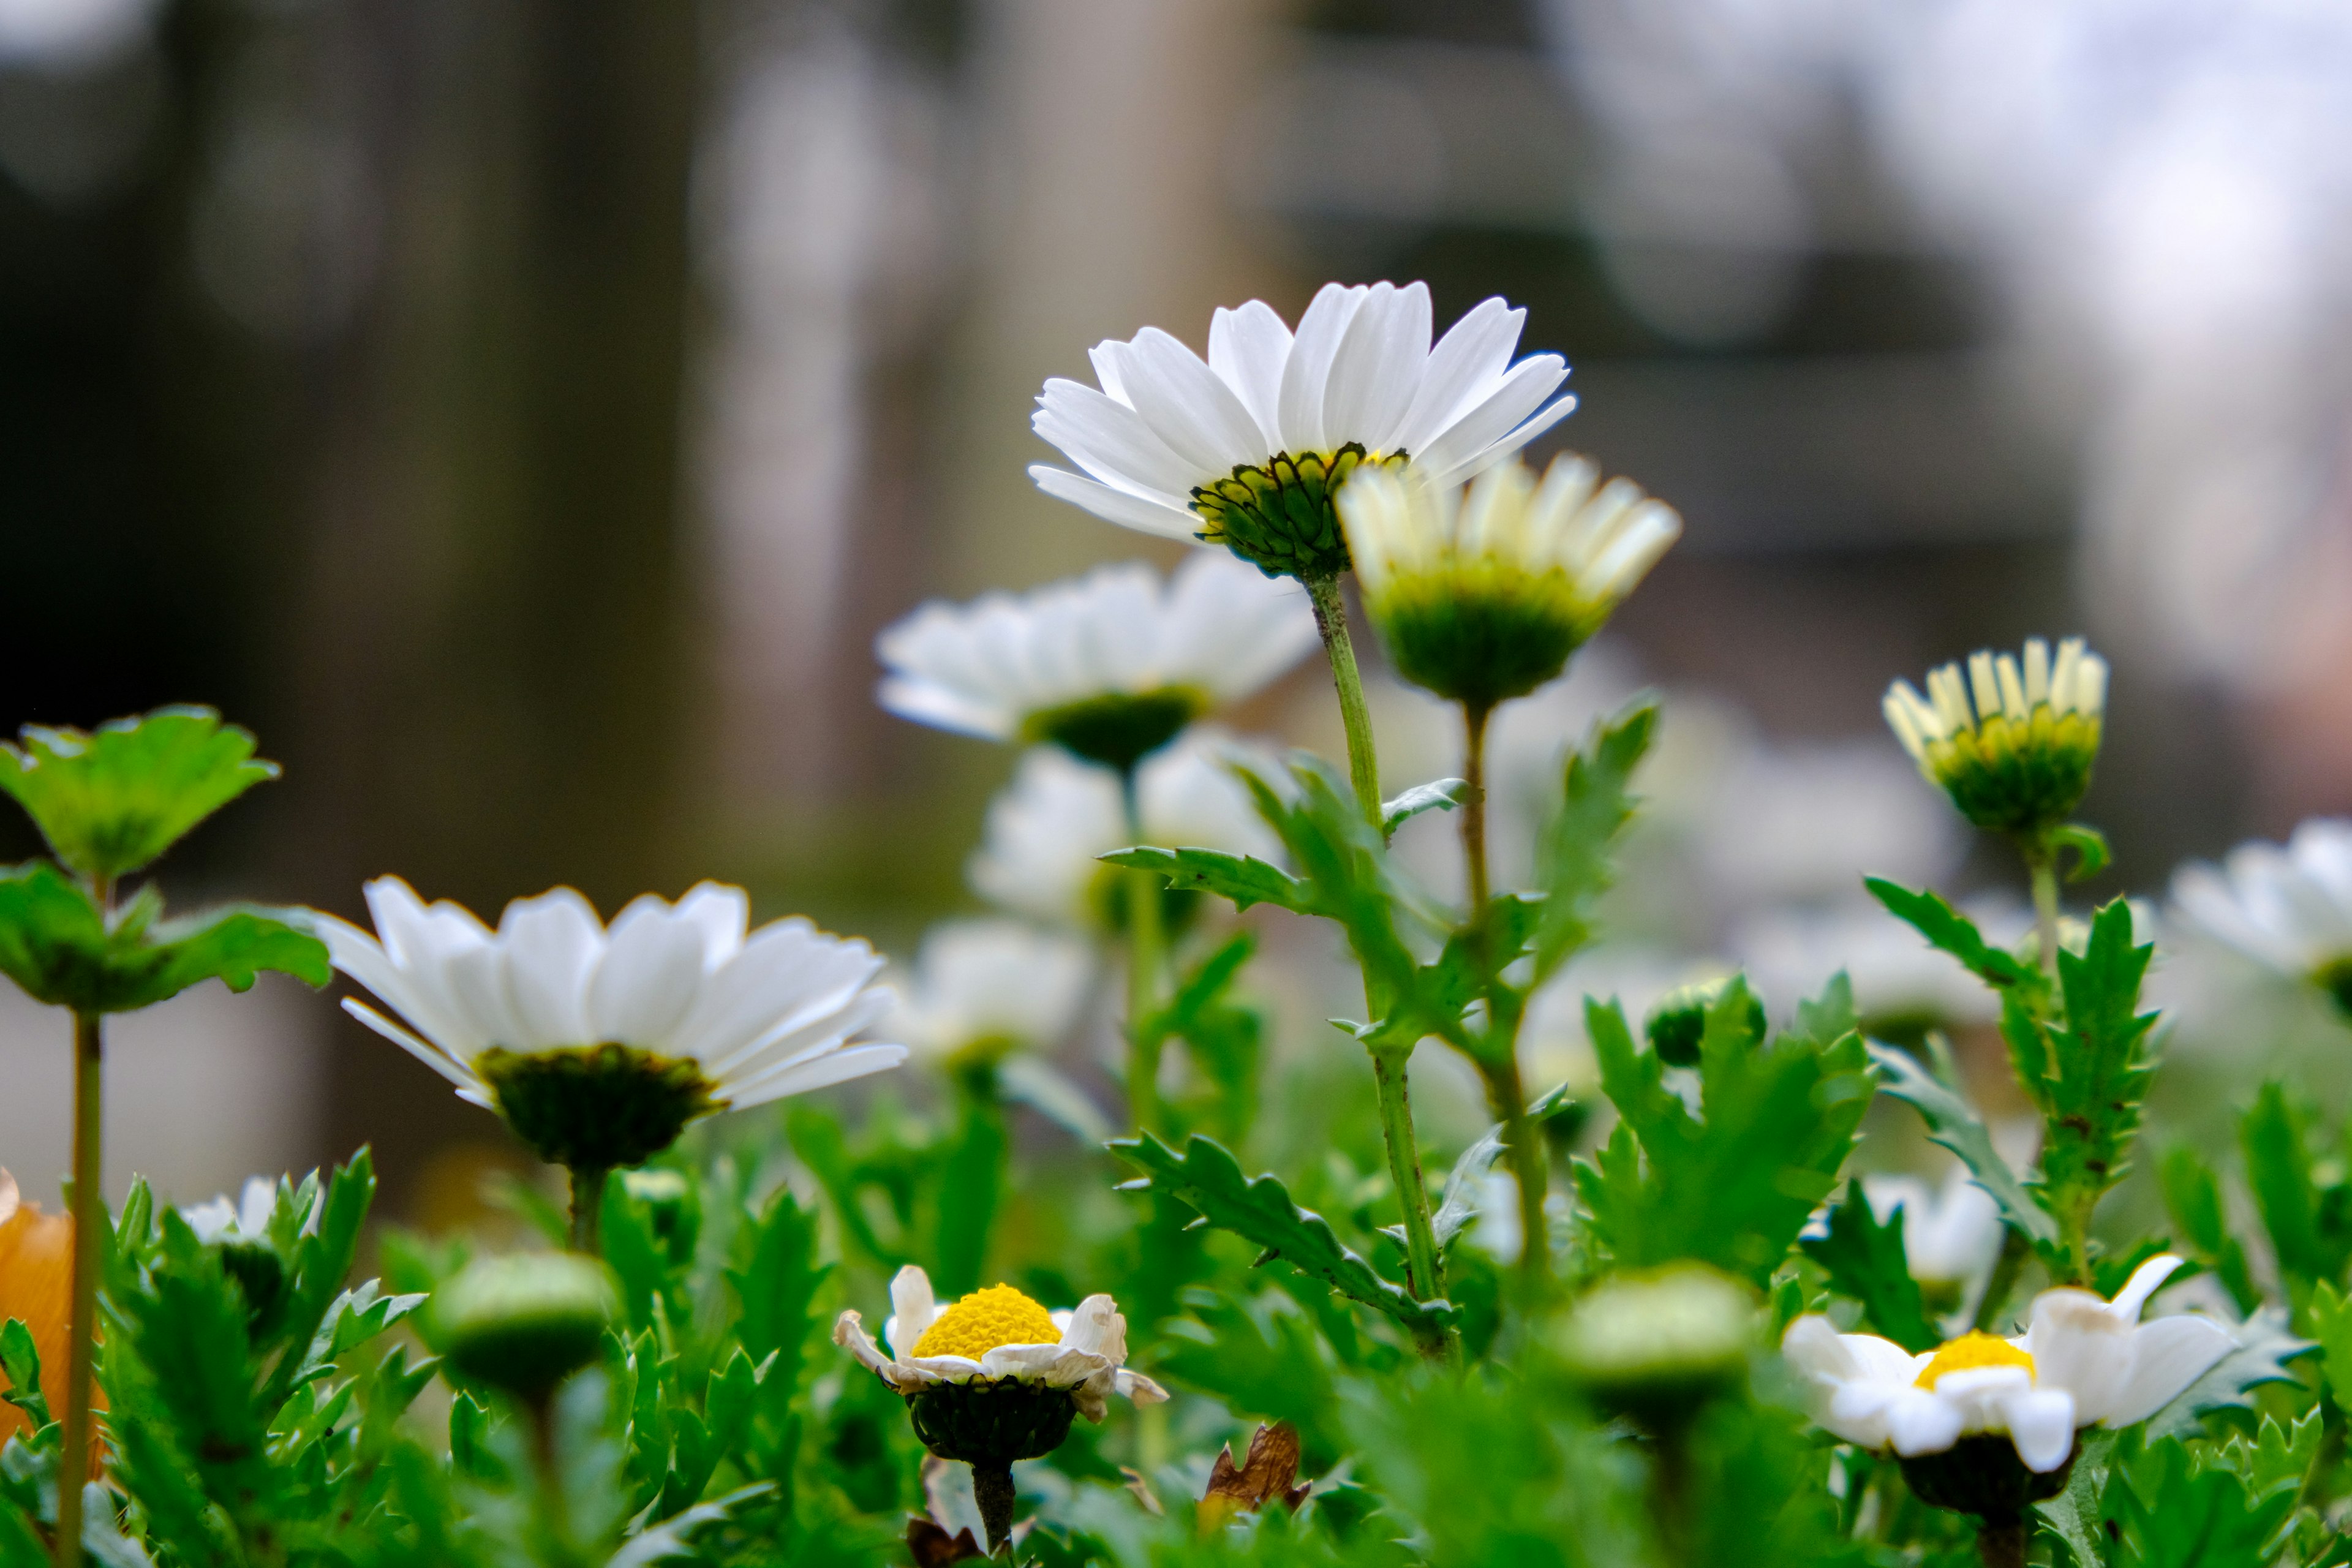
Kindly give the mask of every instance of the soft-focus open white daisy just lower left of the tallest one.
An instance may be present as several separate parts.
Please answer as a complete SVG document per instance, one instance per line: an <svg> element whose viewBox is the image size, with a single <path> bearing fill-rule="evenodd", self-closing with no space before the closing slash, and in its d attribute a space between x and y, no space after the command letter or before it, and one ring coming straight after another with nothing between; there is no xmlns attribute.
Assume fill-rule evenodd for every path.
<svg viewBox="0 0 2352 1568"><path fill-rule="evenodd" d="M988 741L1051 741L1127 769L1315 646L1296 583L1200 552L1167 583L1143 562L1025 595L931 602L875 639L880 701Z"/></svg>

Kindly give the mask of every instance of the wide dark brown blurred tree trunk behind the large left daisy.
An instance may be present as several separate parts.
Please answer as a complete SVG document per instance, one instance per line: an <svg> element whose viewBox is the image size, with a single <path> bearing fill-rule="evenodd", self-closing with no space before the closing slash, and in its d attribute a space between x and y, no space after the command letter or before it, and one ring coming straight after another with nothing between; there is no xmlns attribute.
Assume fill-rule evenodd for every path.
<svg viewBox="0 0 2352 1568"><path fill-rule="evenodd" d="M365 0L336 40L381 195L367 320L325 376L301 882L496 919L569 882L677 893L680 386L699 9ZM315 875L313 875L315 872ZM320 886L325 884L325 886ZM395 1180L447 1084L343 1030L329 1138ZM405 1185L405 1180L400 1182Z"/></svg>

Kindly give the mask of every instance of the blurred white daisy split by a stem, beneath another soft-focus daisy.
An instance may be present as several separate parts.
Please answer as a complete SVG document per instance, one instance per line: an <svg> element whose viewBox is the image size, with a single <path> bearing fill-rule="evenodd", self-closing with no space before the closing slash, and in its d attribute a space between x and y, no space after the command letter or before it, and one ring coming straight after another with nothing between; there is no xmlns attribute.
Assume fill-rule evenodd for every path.
<svg viewBox="0 0 2352 1568"><path fill-rule="evenodd" d="M1221 731L1195 729L1148 757L1136 769L1141 842L1277 860L1282 842L1258 820L1249 792L1228 771L1228 757L1251 755ZM967 877L981 898L1002 910L1056 926L1103 929L1112 924L1112 889L1122 872L1096 856L1136 842L1117 778L1037 748L1021 757L1011 783L990 802L985 837Z"/></svg>

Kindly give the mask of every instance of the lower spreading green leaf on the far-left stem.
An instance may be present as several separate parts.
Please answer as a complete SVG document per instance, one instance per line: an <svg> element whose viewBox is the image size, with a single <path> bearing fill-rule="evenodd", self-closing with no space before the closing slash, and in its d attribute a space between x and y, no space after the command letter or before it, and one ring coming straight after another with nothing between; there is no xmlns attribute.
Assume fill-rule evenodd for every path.
<svg viewBox="0 0 2352 1568"><path fill-rule="evenodd" d="M113 926L85 886L49 860L0 872L0 973L35 1001L78 1013L134 1013L200 980L249 990L263 969L327 985L334 966L308 910L228 905L158 919L162 896L139 889Z"/></svg>

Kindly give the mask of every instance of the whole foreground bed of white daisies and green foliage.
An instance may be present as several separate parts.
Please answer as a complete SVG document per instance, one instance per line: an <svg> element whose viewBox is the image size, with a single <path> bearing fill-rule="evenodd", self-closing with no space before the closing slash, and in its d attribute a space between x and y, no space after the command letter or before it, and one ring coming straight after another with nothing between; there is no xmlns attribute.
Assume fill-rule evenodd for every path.
<svg viewBox="0 0 2352 1568"><path fill-rule="evenodd" d="M1708 853L1769 875L1867 764L1677 759L1590 663L1682 522L1522 461L1573 397L1519 329L1331 284L1044 386L1037 487L1200 548L884 632L884 708L1023 748L1000 914L906 973L713 882L167 914L254 736L24 729L0 971L73 1013L75 1173L0 1175L0 1568L2352 1561L2352 1145L2319 1084L2150 1112L2176 940L2352 1023L2352 823L2070 907L2110 668L2032 639L1889 670L1896 830L1809 827L1900 926L1597 961L1682 896L1653 797L1726 797ZM1221 726L1317 651L1343 757ZM2030 907L1905 879L1962 832ZM501 1192L541 1244L372 1227L365 1150L108 1211L106 1020L259 971L560 1168Z"/></svg>

